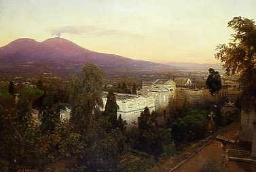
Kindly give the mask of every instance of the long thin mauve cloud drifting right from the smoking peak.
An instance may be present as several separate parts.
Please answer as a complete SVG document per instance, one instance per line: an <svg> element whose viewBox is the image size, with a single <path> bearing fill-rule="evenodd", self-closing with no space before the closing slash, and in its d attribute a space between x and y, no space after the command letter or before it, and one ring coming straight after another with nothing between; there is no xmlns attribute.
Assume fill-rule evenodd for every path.
<svg viewBox="0 0 256 172"><path fill-rule="evenodd" d="M62 34L85 35L87 37L133 37L141 38L142 35L124 30L100 28L98 26L63 26L50 30L52 36L60 37Z"/></svg>

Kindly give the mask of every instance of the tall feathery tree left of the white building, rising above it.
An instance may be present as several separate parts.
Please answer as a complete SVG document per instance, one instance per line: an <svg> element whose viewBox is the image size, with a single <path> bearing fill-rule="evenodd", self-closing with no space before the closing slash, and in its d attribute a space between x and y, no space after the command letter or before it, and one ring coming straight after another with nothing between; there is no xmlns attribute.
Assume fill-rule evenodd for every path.
<svg viewBox="0 0 256 172"><path fill-rule="evenodd" d="M86 64L81 72L81 79L77 77L71 81L70 102L72 107L71 121L77 131L86 132L97 126L94 112L103 107L103 74L95 64Z"/></svg>

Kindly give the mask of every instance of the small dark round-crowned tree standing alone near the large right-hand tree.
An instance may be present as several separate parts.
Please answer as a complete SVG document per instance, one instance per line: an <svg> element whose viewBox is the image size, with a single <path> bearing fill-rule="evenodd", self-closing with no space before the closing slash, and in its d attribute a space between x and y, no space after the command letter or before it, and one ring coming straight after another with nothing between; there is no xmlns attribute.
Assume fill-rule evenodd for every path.
<svg viewBox="0 0 256 172"><path fill-rule="evenodd" d="M206 86L208 87L211 95L213 95L215 92L218 92L221 89L221 75L213 68L209 68L208 72L209 75L206 80Z"/></svg>

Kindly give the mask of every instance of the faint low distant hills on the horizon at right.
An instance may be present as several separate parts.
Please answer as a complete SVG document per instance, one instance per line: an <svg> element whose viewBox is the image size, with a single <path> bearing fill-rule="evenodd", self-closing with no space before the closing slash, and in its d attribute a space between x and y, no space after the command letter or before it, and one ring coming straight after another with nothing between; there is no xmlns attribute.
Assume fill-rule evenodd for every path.
<svg viewBox="0 0 256 172"><path fill-rule="evenodd" d="M216 70L221 70L221 64L197 64L197 63L182 63L182 62L169 62L164 63L165 65L171 66L175 70L208 70L209 68L214 68Z"/></svg>

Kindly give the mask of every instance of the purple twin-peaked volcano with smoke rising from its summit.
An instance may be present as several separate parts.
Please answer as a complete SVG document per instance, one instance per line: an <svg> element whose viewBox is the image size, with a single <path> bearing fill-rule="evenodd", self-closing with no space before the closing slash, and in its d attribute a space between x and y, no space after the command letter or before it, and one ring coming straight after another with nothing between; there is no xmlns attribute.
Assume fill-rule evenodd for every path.
<svg viewBox="0 0 256 172"><path fill-rule="evenodd" d="M86 62L97 64L105 72L170 70L164 64L90 51L62 38L42 42L22 38L0 47L0 72L67 75L79 72Z"/></svg>

